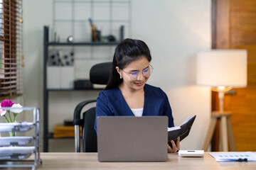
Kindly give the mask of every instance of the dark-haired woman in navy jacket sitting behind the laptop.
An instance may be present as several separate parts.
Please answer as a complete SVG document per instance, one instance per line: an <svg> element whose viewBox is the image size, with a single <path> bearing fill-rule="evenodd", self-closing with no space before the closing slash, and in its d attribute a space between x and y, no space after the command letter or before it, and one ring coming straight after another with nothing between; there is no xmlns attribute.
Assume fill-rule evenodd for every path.
<svg viewBox="0 0 256 170"><path fill-rule="evenodd" d="M110 79L97 98L96 118L102 115L166 115L174 126L169 100L160 88L146 84L153 67L149 47L142 40L125 39L114 51ZM97 119L95 119L97 131ZM179 138L167 145L168 152L180 149Z"/></svg>

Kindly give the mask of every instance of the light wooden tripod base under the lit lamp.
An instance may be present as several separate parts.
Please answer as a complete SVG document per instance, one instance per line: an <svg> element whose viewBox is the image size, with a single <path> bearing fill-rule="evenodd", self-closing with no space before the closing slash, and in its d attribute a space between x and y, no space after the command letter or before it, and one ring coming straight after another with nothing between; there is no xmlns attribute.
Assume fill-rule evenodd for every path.
<svg viewBox="0 0 256 170"><path fill-rule="evenodd" d="M217 120L220 120L220 151L228 152L228 142L230 151L236 151L235 138L230 121L231 112L228 111L213 111L210 119L210 127L208 129L206 140L203 144L203 150L207 151L210 141L213 138L213 132L216 127Z"/></svg>

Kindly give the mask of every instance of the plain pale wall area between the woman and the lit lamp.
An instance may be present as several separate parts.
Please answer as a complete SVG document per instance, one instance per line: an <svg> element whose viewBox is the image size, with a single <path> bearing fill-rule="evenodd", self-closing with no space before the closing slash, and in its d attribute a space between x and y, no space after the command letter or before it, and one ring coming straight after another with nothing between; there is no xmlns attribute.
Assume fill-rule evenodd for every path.
<svg viewBox="0 0 256 170"><path fill-rule="evenodd" d="M148 82L166 91L175 125L197 115L181 149L201 149L210 118L210 89L196 86L196 52L210 49L210 1L133 1L132 38L144 40L151 49L154 73Z"/></svg>

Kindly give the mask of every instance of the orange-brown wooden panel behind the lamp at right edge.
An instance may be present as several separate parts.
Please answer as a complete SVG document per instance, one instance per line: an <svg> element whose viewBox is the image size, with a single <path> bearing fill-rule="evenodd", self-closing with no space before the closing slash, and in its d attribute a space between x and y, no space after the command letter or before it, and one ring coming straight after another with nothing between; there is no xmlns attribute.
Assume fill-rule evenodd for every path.
<svg viewBox="0 0 256 170"><path fill-rule="evenodd" d="M238 151L255 152L256 1L216 0L216 3L216 48L247 50L247 87L234 89L234 94L226 94L224 109L232 112L231 123ZM218 96L213 94L212 97L212 108L218 110Z"/></svg>

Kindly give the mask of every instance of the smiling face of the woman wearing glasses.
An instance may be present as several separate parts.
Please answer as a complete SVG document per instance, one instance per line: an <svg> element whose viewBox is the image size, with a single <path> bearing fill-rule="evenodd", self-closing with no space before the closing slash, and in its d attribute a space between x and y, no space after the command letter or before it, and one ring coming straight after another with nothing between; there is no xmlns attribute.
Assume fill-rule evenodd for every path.
<svg viewBox="0 0 256 170"><path fill-rule="evenodd" d="M144 89L144 85L149 79L149 76L144 76L146 72L150 72L149 60L144 56L139 60L128 64L124 69L119 69L119 67L116 67L116 69L123 79L121 86L129 88L132 91Z"/></svg>

